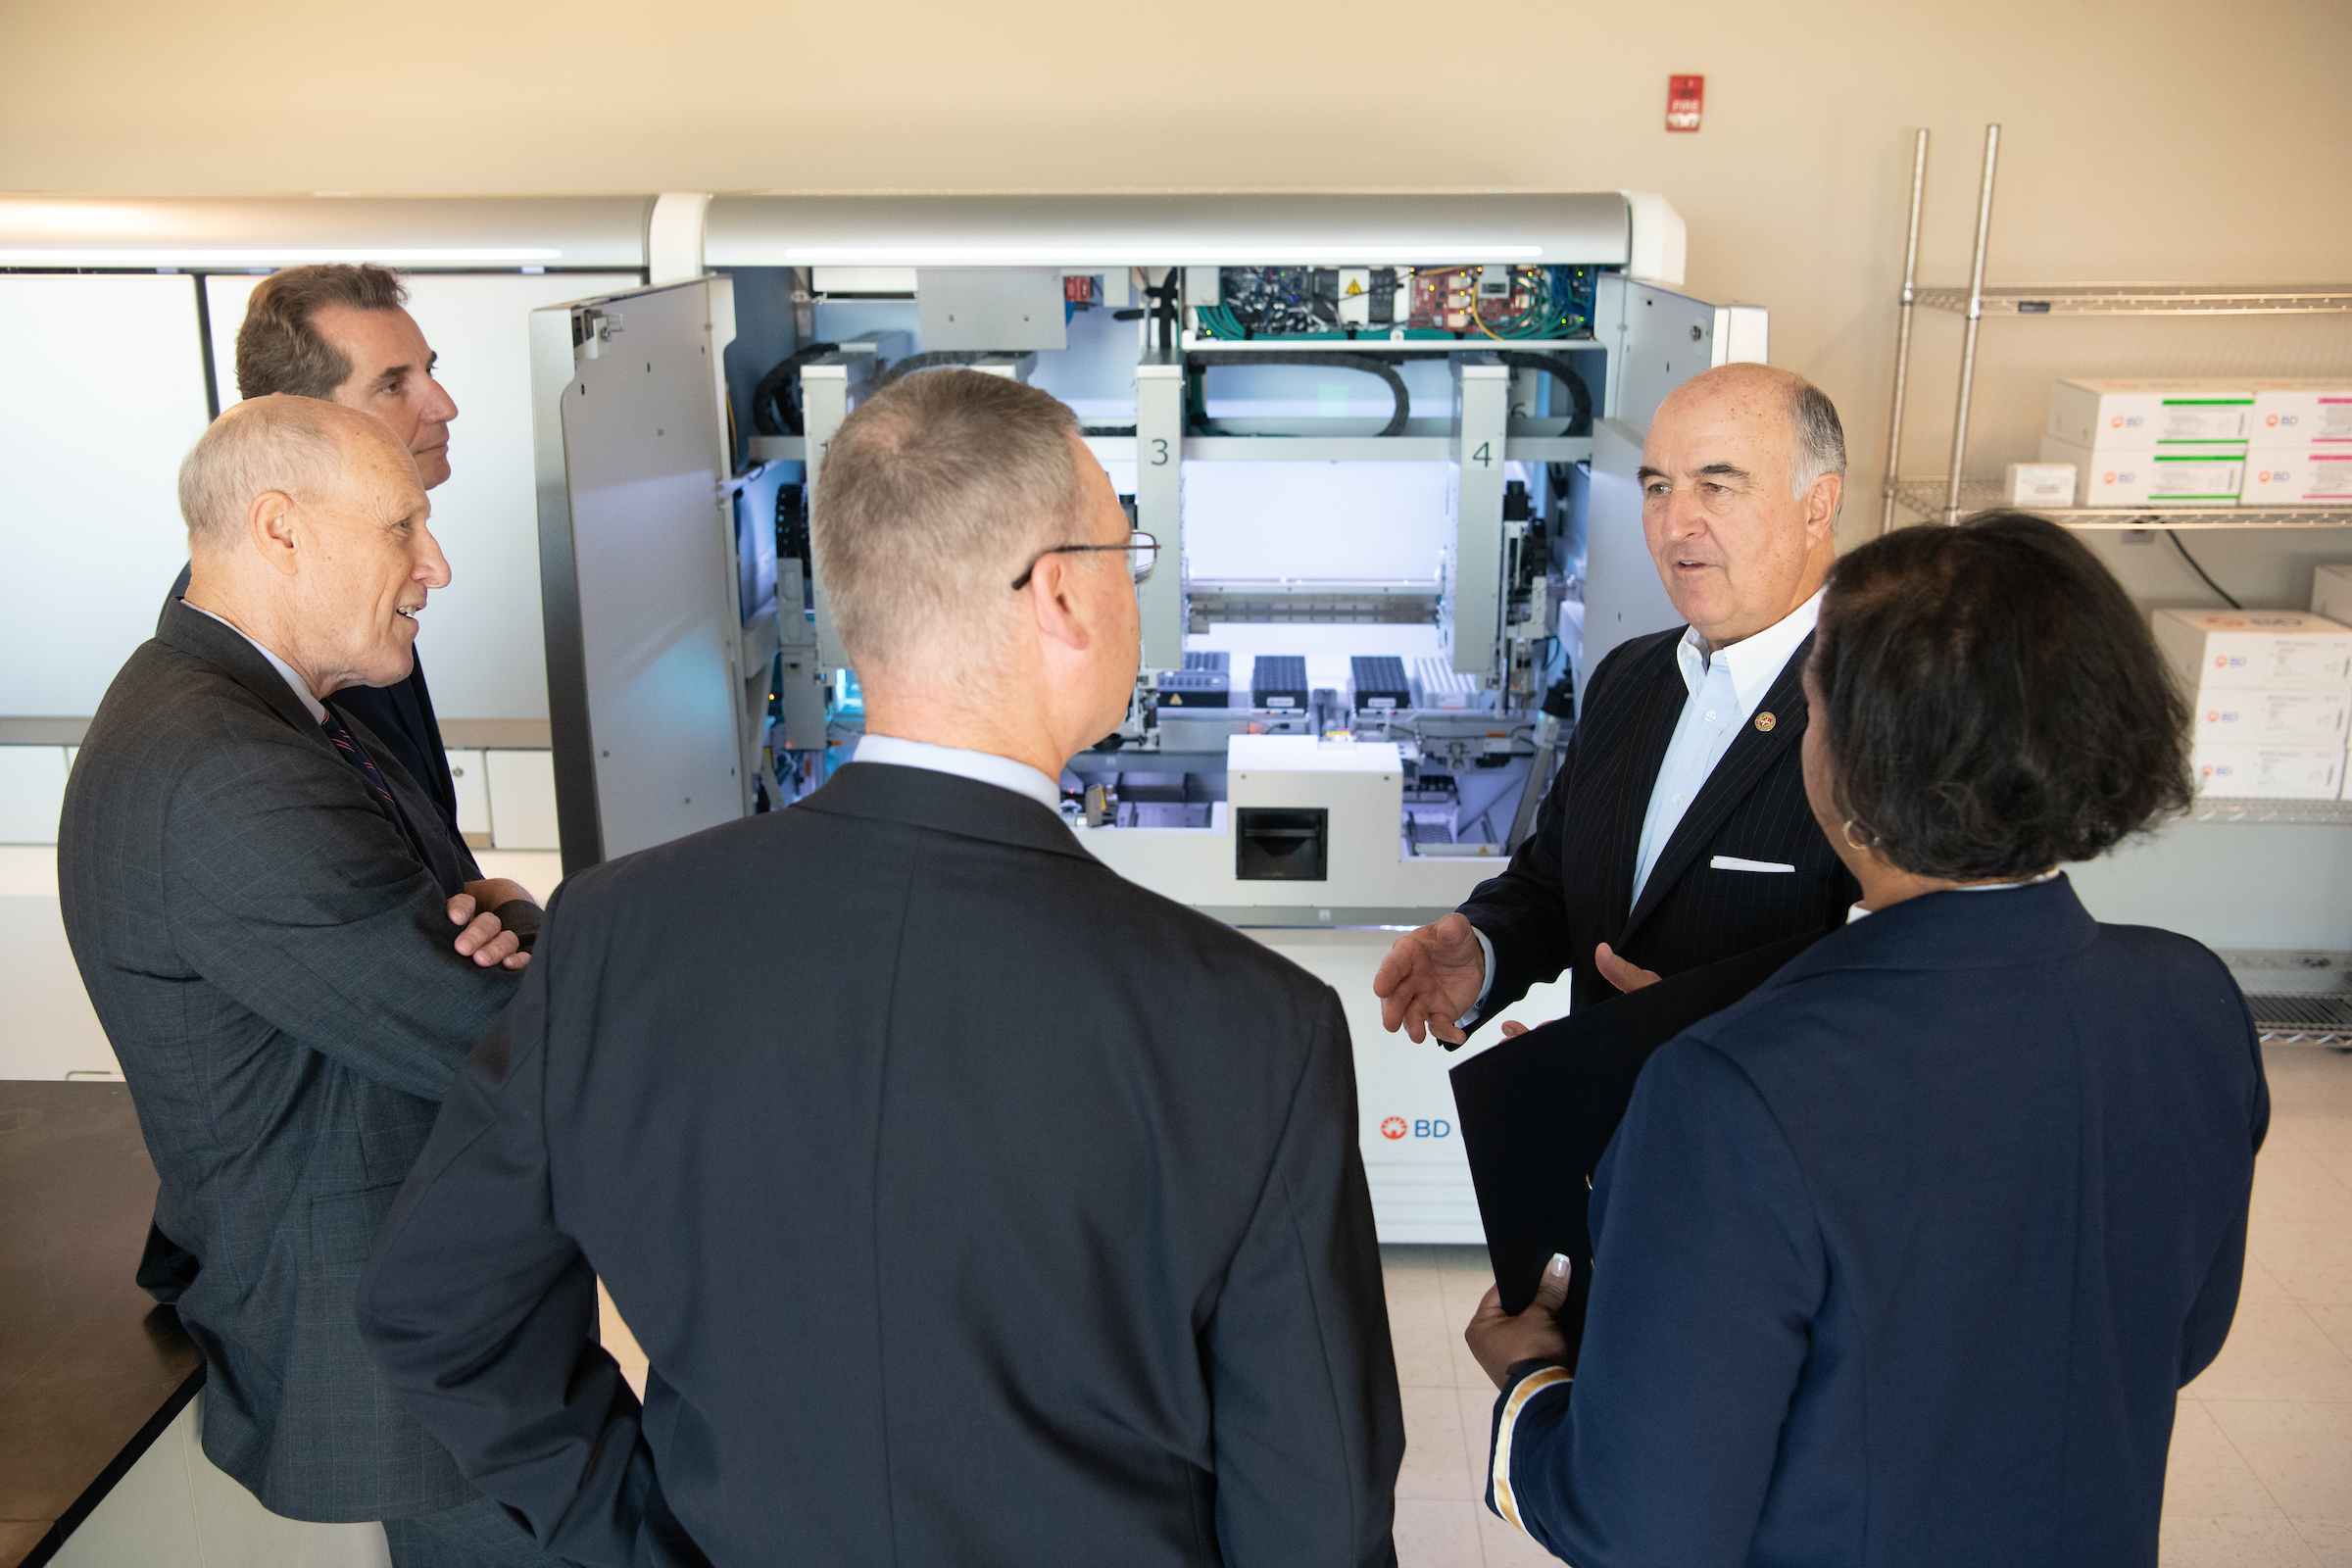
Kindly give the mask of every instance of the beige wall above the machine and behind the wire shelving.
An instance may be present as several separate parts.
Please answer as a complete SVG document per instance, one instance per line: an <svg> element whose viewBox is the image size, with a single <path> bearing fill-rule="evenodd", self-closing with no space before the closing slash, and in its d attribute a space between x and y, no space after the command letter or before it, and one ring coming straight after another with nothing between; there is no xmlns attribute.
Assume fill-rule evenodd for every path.
<svg viewBox="0 0 2352 1568"><path fill-rule="evenodd" d="M2347 59L2345 0L0 0L0 188L1651 188L1691 282L1771 306L1773 360L1846 411L1851 527L1877 517L1912 127L1929 280L1966 273L1987 120L1997 280L2345 280ZM1708 75L1696 136L1663 129L1675 71ZM1957 334L1924 320L1907 470L1943 465ZM2352 371L2352 322L2004 322L1987 348L1971 468L2032 456L2051 374Z"/></svg>

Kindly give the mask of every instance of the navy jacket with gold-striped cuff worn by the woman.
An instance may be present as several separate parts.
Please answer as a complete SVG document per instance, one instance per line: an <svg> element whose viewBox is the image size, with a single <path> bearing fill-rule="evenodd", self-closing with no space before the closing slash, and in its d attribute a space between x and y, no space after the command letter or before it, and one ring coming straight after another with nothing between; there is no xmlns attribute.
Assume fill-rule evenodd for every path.
<svg viewBox="0 0 2352 1568"><path fill-rule="evenodd" d="M2267 1124L2220 959L2063 877L1835 931L1649 1060L1489 1502L1578 1568L2152 1566Z"/></svg>

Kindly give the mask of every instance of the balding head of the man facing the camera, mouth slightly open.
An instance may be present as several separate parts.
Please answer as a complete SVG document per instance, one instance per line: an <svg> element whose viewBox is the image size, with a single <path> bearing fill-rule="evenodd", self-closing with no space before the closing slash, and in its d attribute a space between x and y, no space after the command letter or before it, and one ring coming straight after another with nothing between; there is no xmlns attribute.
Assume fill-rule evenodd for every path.
<svg viewBox="0 0 2352 1568"><path fill-rule="evenodd" d="M1837 557L1846 437L1804 376L1722 364L1658 404L1642 444L1642 534L1710 646L1783 621Z"/></svg>

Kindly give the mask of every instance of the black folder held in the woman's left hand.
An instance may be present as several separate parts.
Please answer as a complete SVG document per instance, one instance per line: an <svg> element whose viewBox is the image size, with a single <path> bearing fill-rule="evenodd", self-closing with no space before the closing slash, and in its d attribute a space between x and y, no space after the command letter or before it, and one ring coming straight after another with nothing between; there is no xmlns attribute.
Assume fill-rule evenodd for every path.
<svg viewBox="0 0 2352 1568"><path fill-rule="evenodd" d="M1543 1265L1552 1253L1566 1253L1576 1272L1559 1326L1571 1366L1592 1281L1585 1194L1592 1168L1625 1119L1642 1063L1700 1018L1764 985L1823 936L1806 931L1609 997L1454 1067L1454 1105L1503 1309L1524 1312Z"/></svg>

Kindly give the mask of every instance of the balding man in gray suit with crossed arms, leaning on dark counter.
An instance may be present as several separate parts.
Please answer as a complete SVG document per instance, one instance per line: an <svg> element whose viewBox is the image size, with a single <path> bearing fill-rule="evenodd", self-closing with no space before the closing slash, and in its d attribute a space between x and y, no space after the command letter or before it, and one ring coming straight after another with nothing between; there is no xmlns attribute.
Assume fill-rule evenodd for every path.
<svg viewBox="0 0 2352 1568"><path fill-rule="evenodd" d="M407 677L449 564L416 463L308 397L181 468L193 576L89 724L59 896L162 1187L139 1281L205 1352L205 1453L400 1568L546 1563L386 1396L353 1321L376 1222L515 994L527 903L334 693Z"/></svg>

